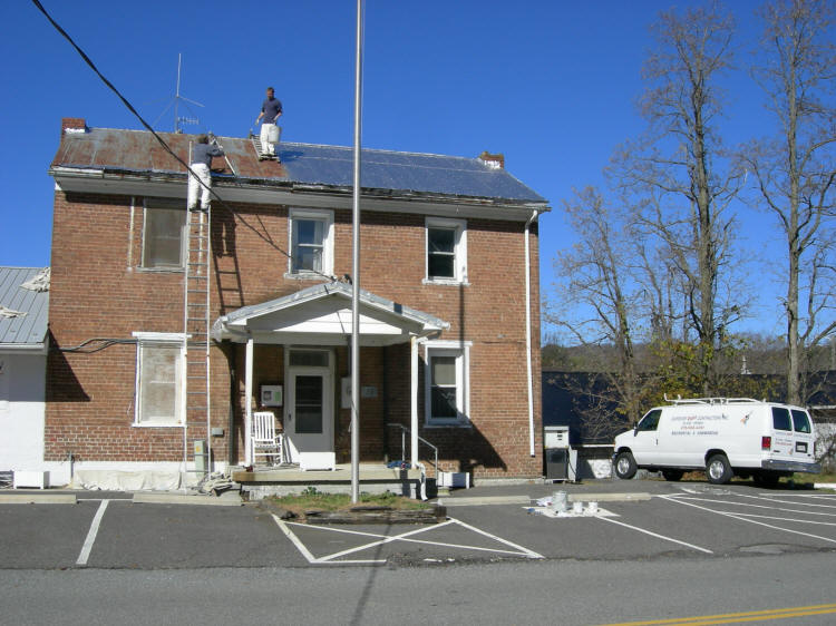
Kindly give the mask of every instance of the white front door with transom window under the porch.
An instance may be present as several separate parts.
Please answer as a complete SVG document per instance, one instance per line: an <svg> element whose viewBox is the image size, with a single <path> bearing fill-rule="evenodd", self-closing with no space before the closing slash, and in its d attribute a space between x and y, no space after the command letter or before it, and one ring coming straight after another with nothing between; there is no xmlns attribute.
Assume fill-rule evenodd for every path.
<svg viewBox="0 0 836 626"><path fill-rule="evenodd" d="M331 353L290 350L284 431L290 460L302 469L333 469L333 376Z"/></svg>

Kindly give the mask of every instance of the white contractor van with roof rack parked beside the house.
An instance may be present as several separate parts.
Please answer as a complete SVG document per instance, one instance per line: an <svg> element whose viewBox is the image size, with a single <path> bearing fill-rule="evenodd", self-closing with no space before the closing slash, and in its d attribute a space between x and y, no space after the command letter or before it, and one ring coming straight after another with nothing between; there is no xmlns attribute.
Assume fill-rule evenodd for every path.
<svg viewBox="0 0 836 626"><path fill-rule="evenodd" d="M813 420L799 407L749 398L673 400L615 437L613 463L623 479L639 468L661 470L668 480L704 469L717 485L732 476L774 485L796 471L822 471L815 441Z"/></svg>

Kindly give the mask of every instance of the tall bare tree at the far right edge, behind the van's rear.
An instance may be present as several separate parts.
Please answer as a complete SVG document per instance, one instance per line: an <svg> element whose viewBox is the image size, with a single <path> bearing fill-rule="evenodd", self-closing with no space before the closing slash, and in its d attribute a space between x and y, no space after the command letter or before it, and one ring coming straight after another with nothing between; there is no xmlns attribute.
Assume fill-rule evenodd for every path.
<svg viewBox="0 0 836 626"><path fill-rule="evenodd" d="M787 243L787 399L800 403L807 400L809 351L836 331L836 115L828 102L836 79L834 6L778 0L760 12L766 57L752 75L780 130L772 140L751 143L742 159Z"/></svg>

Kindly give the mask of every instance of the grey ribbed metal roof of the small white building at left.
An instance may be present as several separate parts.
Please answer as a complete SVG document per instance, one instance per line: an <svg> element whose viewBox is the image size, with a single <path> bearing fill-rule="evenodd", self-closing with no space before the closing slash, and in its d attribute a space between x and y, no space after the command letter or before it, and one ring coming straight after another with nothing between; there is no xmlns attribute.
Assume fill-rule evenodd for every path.
<svg viewBox="0 0 836 626"><path fill-rule="evenodd" d="M0 267L0 312L7 312L0 313L0 349L43 344L47 336L49 292L22 286L43 271L43 267Z"/></svg>

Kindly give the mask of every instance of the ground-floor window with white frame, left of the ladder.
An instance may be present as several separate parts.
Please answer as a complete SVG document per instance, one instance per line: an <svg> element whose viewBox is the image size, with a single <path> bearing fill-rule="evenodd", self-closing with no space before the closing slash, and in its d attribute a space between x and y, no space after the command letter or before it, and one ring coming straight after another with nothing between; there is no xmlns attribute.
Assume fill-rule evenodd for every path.
<svg viewBox="0 0 836 626"><path fill-rule="evenodd" d="M181 426L183 335L134 333L137 343L135 426Z"/></svg>

